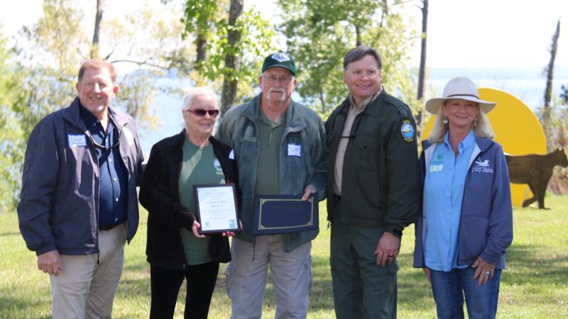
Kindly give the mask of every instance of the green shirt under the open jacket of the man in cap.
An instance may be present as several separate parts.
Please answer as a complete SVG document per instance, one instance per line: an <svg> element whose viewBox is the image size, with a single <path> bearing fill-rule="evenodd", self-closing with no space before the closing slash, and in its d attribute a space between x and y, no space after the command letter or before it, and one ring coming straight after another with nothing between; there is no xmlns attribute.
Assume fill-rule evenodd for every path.
<svg viewBox="0 0 568 319"><path fill-rule="evenodd" d="M286 110L288 111L288 110ZM254 194L280 194L280 142L284 133L286 113L278 120L271 121L259 109L258 128L258 170Z"/></svg>

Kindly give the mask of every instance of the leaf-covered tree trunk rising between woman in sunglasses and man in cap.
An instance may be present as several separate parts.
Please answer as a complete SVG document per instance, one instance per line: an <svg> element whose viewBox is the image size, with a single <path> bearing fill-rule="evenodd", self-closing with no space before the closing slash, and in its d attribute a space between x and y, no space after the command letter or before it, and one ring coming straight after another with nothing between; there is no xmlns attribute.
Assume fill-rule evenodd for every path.
<svg viewBox="0 0 568 319"><path fill-rule="evenodd" d="M231 27L236 24L236 19L243 13L243 2L244 0L231 0L231 6L229 7L229 34L227 35L227 41L231 46L234 46L241 40L241 33ZM241 57L232 53L227 53L225 55L225 67L238 70L240 65ZM236 96L237 84L238 81L236 79L231 79L231 74L225 74L223 80L223 91L221 94L222 113L229 110L229 108L233 105Z"/></svg>

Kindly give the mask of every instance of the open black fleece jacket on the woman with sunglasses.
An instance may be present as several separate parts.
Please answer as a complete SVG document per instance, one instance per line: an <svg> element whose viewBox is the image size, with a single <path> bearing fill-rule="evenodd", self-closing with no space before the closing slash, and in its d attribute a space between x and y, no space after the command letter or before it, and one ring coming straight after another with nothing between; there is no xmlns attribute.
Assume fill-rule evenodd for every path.
<svg viewBox="0 0 568 319"><path fill-rule="evenodd" d="M153 145L144 171L139 199L148 210L146 255L151 264L168 269L183 269L187 260L182 246L180 228L191 229L194 213L180 203L178 179L182 164L185 130ZM241 202L236 160L229 158L231 147L209 138L215 157L223 169L226 183L236 184L237 201ZM229 262L229 240L212 235L209 254L217 262Z"/></svg>

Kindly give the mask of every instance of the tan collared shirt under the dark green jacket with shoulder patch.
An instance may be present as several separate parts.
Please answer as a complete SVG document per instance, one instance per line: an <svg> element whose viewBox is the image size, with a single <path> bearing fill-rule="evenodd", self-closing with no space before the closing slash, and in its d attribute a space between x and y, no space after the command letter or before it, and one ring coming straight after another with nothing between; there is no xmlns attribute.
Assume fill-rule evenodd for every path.
<svg viewBox="0 0 568 319"><path fill-rule="evenodd" d="M349 102L351 106L349 107L349 112L347 113L347 117L345 118L345 123L343 126L342 137L339 140L339 145L337 145L337 154L335 155L335 166L334 166L334 185L333 191L334 194L339 196L342 195L342 177L343 177L343 158L345 156L345 150L347 149L347 144L349 143L349 138L347 136L351 135L351 126L353 126L353 121L355 121L356 116L358 116L361 112L363 112L372 101L375 101L376 97L381 94L383 91L383 87L381 86L378 89L376 94L369 96L367 99L364 99L361 102L361 107L357 107L355 105L355 101L353 100L353 96L349 95Z"/></svg>

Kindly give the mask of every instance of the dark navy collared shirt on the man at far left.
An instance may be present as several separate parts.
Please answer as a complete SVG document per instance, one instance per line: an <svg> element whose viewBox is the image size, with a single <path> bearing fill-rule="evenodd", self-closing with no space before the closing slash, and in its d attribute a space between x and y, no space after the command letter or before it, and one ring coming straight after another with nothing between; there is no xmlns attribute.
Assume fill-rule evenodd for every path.
<svg viewBox="0 0 568 319"><path fill-rule="evenodd" d="M116 128L114 113L109 108L109 124L105 132L101 122L84 106L80 105L80 116L97 150L99 163L99 228L115 225L126 220L128 204L128 172L122 162L119 150L119 130ZM105 149L97 145L110 147Z"/></svg>

